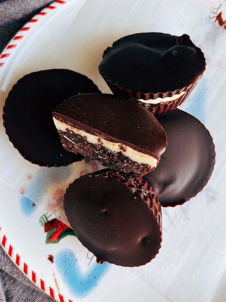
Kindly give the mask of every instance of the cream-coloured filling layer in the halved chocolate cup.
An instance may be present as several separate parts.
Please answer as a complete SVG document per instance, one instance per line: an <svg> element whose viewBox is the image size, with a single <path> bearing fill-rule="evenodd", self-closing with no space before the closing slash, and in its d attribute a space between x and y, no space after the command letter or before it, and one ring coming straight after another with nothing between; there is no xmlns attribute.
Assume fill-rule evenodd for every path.
<svg viewBox="0 0 226 302"><path fill-rule="evenodd" d="M121 143L109 142L109 141L107 141L107 140L105 140L105 139L103 139L99 136L87 133L83 130L80 130L80 129L77 129L77 128L74 128L74 127L71 127L71 126L69 126L69 125L67 125L63 122L58 121L54 117L53 117L53 121L54 121L54 124L55 124L57 130L65 132L64 138L68 139L70 142L72 142L74 144L75 144L75 142L73 142L72 139L69 139L67 137L66 129L68 129L70 131L70 133L75 133L75 134L79 134L81 136L85 136L89 143L92 143L92 144L100 144L101 143L103 145L103 147L107 148L111 152L114 152L114 153L121 152L125 156L129 157L131 160L133 160L137 163L147 164L150 167L156 167L157 166L158 159L156 159L156 158L154 158L150 155L138 152L138 151L132 149L131 147L123 145Z"/></svg>

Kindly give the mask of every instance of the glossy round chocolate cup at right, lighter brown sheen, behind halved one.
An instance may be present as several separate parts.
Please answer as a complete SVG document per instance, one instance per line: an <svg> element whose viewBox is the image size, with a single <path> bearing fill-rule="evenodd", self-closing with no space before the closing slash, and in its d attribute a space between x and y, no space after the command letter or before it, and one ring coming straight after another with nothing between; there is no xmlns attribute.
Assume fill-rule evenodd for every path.
<svg viewBox="0 0 226 302"><path fill-rule="evenodd" d="M173 207L206 185L215 163L214 144L204 125L182 110L155 116L166 131L168 146L158 167L143 179L151 184L161 206Z"/></svg>

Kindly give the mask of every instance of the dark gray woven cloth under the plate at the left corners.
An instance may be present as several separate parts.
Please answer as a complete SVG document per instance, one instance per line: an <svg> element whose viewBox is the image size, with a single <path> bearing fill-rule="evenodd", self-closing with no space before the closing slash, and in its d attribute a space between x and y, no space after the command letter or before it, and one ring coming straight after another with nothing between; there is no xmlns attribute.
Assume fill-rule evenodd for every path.
<svg viewBox="0 0 226 302"><path fill-rule="evenodd" d="M53 1L0 0L0 53L18 30ZM0 302L53 302L10 260L0 246Z"/></svg>

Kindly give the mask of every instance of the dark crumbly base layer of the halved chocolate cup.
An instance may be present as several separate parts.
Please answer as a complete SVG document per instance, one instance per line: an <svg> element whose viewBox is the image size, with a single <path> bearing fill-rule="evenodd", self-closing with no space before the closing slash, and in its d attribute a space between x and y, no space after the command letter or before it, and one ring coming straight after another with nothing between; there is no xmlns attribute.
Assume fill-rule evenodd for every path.
<svg viewBox="0 0 226 302"><path fill-rule="evenodd" d="M84 157L98 160L99 164L110 169L127 173L127 177L140 178L153 169L148 164L137 163L125 156L122 152L111 152L100 144L89 143L85 136L79 134L58 131L63 147L70 152L81 153ZM67 136L66 136L66 135ZM67 138L68 139L67 139Z"/></svg>

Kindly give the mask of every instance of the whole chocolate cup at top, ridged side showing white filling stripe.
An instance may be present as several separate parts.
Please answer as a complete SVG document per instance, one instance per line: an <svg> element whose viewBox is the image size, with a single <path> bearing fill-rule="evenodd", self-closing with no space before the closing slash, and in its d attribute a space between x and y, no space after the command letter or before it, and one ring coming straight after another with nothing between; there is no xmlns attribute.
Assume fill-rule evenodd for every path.
<svg viewBox="0 0 226 302"><path fill-rule="evenodd" d="M129 83L129 81L127 81L126 82L127 84L125 84L125 85L120 84L120 80L119 81L116 80L116 75L114 75L114 79L111 79L111 76L108 74L108 72L106 72L106 70L108 70L108 67L109 67L109 70L113 69L113 72L114 72L114 66L112 65L112 62L113 62L112 58L114 58L114 56L115 56L116 60L117 60L117 56L121 55L120 47L122 47L122 46L127 47L127 43L129 44L131 42L133 42L135 44L137 39L138 39L138 43L144 43L144 45L145 45L145 43L146 44L148 43L147 41L149 38L152 39L152 36L154 36L153 39L155 39L156 35L159 35L158 38L163 39L163 41L164 41L164 39L167 39L168 42L166 42L166 43L168 43L169 48L172 49L172 51L171 51L172 53L166 54L166 58L167 58L166 66L168 65L168 61L170 62L170 64L173 64L172 62L177 62L177 66L175 66L175 68L172 69L173 70L172 72L174 72L174 74L176 74L177 70L180 69L179 67L181 67L181 69L189 68L189 62L186 62L185 66L180 65L180 61L183 61L183 58L186 56L188 56L188 58L189 58L189 54L186 54L187 50L185 50L185 54L183 54L183 51L182 51L181 54L175 55L175 53L177 51L175 51L175 49L173 49L172 41L170 41L170 40L174 41L174 44L175 44L174 46L179 46L179 45L186 46L189 49L192 48L193 51L197 52L197 53L195 53L196 62L199 63L199 66L197 68L197 74L193 75L193 72L189 73L189 74L192 74L192 76L190 76L190 78L189 78L190 79L189 83L184 81L184 83L186 83L185 86L183 86L183 85L181 86L181 84L183 82L178 84L178 86L175 85L175 83L173 83L173 85L172 85L172 87L174 87L173 90L172 89L168 90L170 88L170 86L169 85L164 86L164 84L163 84L162 89L160 90L160 87L158 87L159 90L157 90L157 91L154 91L153 88L149 89L148 84L146 84L146 88L142 91L141 89L137 90L138 88L133 89L132 85ZM142 39L146 39L147 41L143 42ZM164 50L167 50L168 44L166 44L166 49L164 49ZM131 52L128 54L128 57L131 58L131 61L132 61L133 54L131 54ZM167 52L167 51L165 51L165 52ZM177 55L178 55L178 59L175 59L175 57L177 57ZM111 57L111 66L108 66L109 63L107 60L109 57ZM124 59L125 59L125 57L126 56L124 55ZM142 53L140 54L140 57L142 57ZM143 57L144 57L144 60L146 60L145 55ZM197 57L198 57L198 59L197 59ZM119 62L122 62L122 60L123 60L123 57L120 57ZM199 60L199 61L197 61L197 60ZM118 66L119 62L116 61L114 65ZM162 58L160 58L159 62L162 62ZM131 78L133 77L135 79L137 77L137 82L139 82L139 81L142 82L142 80L144 80L145 78L147 78L147 79L150 78L150 83L151 83L152 79L153 79L153 78L151 78L151 76L154 77L156 73L152 72L152 70L150 68L146 67L146 61L144 61L144 70L146 70L146 71L143 72L143 69L140 70L141 63L142 62L139 62L139 66L137 67L137 70L135 70L135 71L130 70L129 67L127 66L128 70L129 70L127 76L128 76L128 78L131 76ZM177 108L177 106L179 106L186 99L186 97L189 95L189 92L196 86L199 79L201 79L201 77L205 71L205 65L206 65L206 62L205 62L205 57L204 57L203 52L201 51L200 48L198 48L197 46L195 46L192 43L192 41L190 40L190 37L187 34L183 34L182 36L178 37L178 36L171 36L170 34L162 34L162 33L140 33L140 34L133 34L133 35L123 37L123 38L115 41L111 47L108 47L103 53L103 60L99 65L99 73L101 74L101 76L103 77L103 79L107 83L108 87L113 92L113 94L122 95L128 99L134 99L136 101L138 101L139 99L143 99L143 100L157 99L157 98L164 99L166 97L173 97L173 95L179 95L182 92L185 92L185 94L182 95L180 98L178 98L174 101L169 101L169 102L151 104L151 103L142 103L142 102L138 101L140 104L142 104L148 110L150 110L152 113L160 114L161 112L166 112L166 111L170 111L172 109ZM123 65L122 70L125 70L125 69L126 69L126 65L125 66ZM195 68L193 68L193 70L194 69ZM182 69L182 70L186 74L186 69ZM161 78L160 74L158 74L158 76L160 78L159 82L162 81L162 83L167 83L170 78L170 74L168 75L168 77L167 77L167 75L164 76L164 65L161 66L161 68L160 68L160 73L161 72L162 72L163 77ZM119 74L119 73L120 73L119 70L117 70L117 72L115 72L115 74ZM172 78L173 78L173 74L172 74ZM175 78L178 78L177 75L175 76ZM165 90L165 88L166 89L168 88L168 89Z"/></svg>

